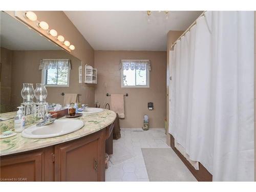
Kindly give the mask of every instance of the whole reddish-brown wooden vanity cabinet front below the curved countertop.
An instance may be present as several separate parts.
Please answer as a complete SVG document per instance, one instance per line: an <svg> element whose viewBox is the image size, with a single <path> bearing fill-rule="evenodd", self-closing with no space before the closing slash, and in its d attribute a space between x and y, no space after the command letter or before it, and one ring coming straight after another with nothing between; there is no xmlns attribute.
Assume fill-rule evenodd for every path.
<svg viewBox="0 0 256 192"><path fill-rule="evenodd" d="M2 181L104 181L105 129L0 161Z"/></svg>

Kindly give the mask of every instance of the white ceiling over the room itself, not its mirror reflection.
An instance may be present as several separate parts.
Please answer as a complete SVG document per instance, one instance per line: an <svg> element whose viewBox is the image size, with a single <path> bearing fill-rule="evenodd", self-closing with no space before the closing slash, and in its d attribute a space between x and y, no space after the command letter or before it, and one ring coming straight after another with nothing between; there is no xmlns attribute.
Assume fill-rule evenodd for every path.
<svg viewBox="0 0 256 192"><path fill-rule="evenodd" d="M94 50L166 51L169 30L186 30L202 11L64 11Z"/></svg>

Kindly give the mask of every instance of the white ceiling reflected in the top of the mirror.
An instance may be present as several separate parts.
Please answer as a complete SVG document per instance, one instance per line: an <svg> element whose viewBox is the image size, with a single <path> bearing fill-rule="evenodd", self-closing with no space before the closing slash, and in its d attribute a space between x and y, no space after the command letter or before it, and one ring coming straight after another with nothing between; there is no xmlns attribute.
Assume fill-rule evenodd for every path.
<svg viewBox="0 0 256 192"><path fill-rule="evenodd" d="M34 30L1 11L1 47L9 50L62 50Z"/></svg>

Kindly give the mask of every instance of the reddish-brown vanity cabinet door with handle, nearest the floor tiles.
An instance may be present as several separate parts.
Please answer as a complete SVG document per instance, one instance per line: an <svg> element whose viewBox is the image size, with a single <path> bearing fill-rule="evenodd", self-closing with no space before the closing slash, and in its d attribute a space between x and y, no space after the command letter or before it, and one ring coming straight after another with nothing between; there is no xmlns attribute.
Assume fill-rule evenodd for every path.
<svg viewBox="0 0 256 192"><path fill-rule="evenodd" d="M55 145L55 181L104 181L105 132Z"/></svg>

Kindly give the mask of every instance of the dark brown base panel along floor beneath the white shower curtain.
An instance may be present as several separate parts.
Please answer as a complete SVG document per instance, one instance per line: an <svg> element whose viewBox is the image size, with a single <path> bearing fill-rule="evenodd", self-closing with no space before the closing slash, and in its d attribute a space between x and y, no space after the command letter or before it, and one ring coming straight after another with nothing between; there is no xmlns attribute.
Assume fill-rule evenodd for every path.
<svg viewBox="0 0 256 192"><path fill-rule="evenodd" d="M174 137L170 136L170 147L174 150L174 152L178 155L181 161L186 165L188 170L195 176L198 181L212 181L212 175L208 172L208 170L199 162L199 170L196 170L186 158L177 150L174 146Z"/></svg>

